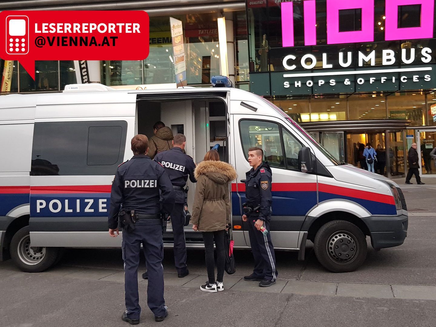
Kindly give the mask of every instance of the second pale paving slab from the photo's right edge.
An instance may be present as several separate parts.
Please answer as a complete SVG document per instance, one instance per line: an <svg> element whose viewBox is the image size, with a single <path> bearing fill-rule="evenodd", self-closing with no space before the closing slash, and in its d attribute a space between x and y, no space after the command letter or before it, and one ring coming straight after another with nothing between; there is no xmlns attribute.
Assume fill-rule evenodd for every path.
<svg viewBox="0 0 436 327"><path fill-rule="evenodd" d="M378 299L393 299L390 285L339 283L338 296L376 297Z"/></svg>

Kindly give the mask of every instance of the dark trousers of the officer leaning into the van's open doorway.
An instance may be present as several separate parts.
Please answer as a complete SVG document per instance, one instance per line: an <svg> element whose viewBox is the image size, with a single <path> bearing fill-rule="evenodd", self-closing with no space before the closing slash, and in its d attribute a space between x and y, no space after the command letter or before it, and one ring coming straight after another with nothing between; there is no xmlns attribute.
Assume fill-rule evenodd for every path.
<svg viewBox="0 0 436 327"><path fill-rule="evenodd" d="M177 273L186 271L186 241L185 241L185 215L184 204L175 203L171 211L171 227L174 235L174 263Z"/></svg>

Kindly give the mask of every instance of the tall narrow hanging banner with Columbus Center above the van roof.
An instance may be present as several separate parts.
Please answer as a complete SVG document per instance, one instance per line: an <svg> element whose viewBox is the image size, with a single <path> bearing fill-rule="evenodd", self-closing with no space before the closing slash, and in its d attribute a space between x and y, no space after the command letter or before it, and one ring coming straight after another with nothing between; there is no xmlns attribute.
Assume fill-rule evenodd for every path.
<svg viewBox="0 0 436 327"><path fill-rule="evenodd" d="M170 17L170 27L177 87L186 86L186 56L181 20Z"/></svg>

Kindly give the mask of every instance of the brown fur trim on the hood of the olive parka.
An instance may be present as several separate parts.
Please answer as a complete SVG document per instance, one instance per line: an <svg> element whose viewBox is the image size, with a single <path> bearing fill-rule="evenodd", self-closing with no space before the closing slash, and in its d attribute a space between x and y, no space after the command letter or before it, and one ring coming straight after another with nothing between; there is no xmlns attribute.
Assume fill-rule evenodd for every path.
<svg viewBox="0 0 436 327"><path fill-rule="evenodd" d="M212 181L225 184L234 181L236 177L236 170L231 164L224 161L204 160L201 161L194 171L194 176L198 180L200 175L205 175Z"/></svg>

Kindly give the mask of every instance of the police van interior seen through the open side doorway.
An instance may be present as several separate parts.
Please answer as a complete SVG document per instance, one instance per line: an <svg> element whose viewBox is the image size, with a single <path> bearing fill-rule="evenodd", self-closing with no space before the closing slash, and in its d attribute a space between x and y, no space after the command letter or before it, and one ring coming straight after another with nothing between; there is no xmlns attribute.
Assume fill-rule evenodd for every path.
<svg viewBox="0 0 436 327"><path fill-rule="evenodd" d="M159 96L138 95L136 102L135 133L145 134L149 139L154 135L154 123L161 121L170 127L173 135L182 133L186 136L186 153L198 164L206 152L217 144L221 161L229 162L228 153L228 112L227 105L221 97L162 99ZM187 181L188 208L194 199L195 184ZM168 226L164 242L172 238L171 227ZM201 234L194 233L191 225L185 227L187 243L201 242ZM169 234L168 234L169 232ZM192 232L192 233L191 233Z"/></svg>

